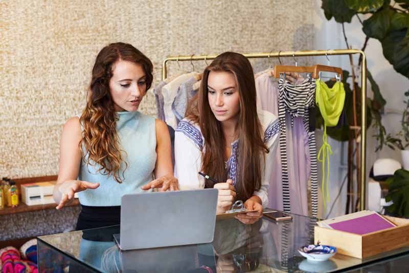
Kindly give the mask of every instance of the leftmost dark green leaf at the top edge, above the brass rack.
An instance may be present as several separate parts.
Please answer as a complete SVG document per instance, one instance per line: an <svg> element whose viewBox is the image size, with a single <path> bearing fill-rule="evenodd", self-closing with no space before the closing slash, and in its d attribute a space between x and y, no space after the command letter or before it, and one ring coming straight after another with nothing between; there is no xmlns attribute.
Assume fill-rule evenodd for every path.
<svg viewBox="0 0 409 273"><path fill-rule="evenodd" d="M321 8L324 10L325 17L330 20L334 17L338 23L351 23L355 10L348 8L342 0L322 0Z"/></svg>

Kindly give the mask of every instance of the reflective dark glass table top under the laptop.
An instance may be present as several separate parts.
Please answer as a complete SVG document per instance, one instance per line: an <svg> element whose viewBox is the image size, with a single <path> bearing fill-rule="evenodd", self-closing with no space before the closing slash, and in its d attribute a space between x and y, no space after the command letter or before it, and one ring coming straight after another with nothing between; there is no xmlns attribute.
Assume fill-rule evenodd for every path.
<svg viewBox="0 0 409 273"><path fill-rule="evenodd" d="M71 261L70 272L75 263L97 272L341 272L409 256L404 247L367 259L336 254L325 262L307 261L298 248L313 243L316 219L290 215L291 221L262 218L251 225L218 220L210 244L152 249L121 251L113 240L119 225L41 236L40 270L61 256Z"/></svg>

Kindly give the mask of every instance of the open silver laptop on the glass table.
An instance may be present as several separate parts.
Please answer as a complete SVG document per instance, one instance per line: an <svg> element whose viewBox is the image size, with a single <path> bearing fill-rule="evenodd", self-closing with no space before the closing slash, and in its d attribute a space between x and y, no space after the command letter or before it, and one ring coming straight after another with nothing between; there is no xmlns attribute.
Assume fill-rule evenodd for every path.
<svg viewBox="0 0 409 273"><path fill-rule="evenodd" d="M121 200L122 250L213 241L217 189L126 194Z"/></svg>

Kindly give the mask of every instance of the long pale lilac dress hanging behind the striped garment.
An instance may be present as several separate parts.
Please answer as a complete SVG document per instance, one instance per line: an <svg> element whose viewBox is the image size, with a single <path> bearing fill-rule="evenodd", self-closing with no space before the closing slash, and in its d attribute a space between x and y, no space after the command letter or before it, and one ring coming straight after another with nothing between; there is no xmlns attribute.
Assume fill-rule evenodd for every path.
<svg viewBox="0 0 409 273"><path fill-rule="evenodd" d="M296 84L304 81L299 78ZM279 113L279 88L275 78L270 73L260 75L255 80L257 101L262 110L269 111L278 116ZM286 152L288 169L288 184L290 189L291 213L308 215L308 181L310 179L310 153L308 131L304 128L303 117L291 117L285 114L286 127ZM282 124L282 126L284 126ZM277 149L273 171L270 176L270 188L268 192L269 207L283 210L283 184L281 152Z"/></svg>

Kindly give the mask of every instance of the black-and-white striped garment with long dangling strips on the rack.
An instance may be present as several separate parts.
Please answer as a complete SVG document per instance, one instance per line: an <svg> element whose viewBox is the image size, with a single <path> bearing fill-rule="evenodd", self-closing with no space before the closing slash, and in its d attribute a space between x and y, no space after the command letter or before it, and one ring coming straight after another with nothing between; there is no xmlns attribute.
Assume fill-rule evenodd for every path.
<svg viewBox="0 0 409 273"><path fill-rule="evenodd" d="M281 124L285 124L285 114L291 116L291 126L294 117L303 117L304 129L308 132L308 148L311 160L311 213L316 217L318 212L318 174L316 159L316 144L314 132L309 132L309 108L314 107L315 82L311 76L298 85L294 85L285 79L285 75L280 75L279 79L279 113L278 117ZM280 127L280 154L282 166L282 184L283 184L283 210L291 211L290 189L288 179L287 149L286 149L286 127Z"/></svg>

